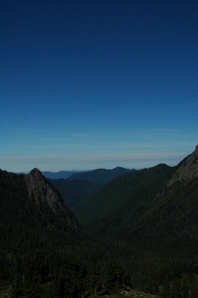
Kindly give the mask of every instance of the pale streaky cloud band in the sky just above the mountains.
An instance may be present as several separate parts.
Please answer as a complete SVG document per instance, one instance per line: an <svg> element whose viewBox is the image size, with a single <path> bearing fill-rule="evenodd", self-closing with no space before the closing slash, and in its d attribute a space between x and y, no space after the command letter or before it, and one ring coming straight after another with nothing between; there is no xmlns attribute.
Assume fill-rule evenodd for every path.
<svg viewBox="0 0 198 298"><path fill-rule="evenodd" d="M0 168L7 171L30 171L34 167L41 171L116 166L140 169L159 163L178 164L194 151L198 134L177 130L76 133L15 137L1 143ZM14 150L10 146L6 150L8 145Z"/></svg>

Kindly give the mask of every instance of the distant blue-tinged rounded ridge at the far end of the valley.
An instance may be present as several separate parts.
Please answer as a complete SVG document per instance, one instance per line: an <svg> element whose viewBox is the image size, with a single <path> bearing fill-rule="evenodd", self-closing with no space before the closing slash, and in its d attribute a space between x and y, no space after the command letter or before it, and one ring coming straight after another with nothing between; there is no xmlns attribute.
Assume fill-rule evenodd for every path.
<svg viewBox="0 0 198 298"><path fill-rule="evenodd" d="M112 170L106 170L106 169L97 169L93 171L87 171L82 173L75 173L68 177L68 180L71 179L86 179L88 181L99 183L99 184L106 184L110 180L114 179L115 177L119 175L123 175L132 171L136 171L135 169L129 170L122 168L120 166L112 169Z"/></svg>

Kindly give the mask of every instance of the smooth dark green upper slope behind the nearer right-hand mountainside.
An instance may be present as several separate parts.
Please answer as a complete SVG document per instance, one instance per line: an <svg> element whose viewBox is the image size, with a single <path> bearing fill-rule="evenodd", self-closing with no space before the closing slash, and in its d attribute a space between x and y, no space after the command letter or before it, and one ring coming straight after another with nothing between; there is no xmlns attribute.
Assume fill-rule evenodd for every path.
<svg viewBox="0 0 198 298"><path fill-rule="evenodd" d="M150 169L142 169L118 176L97 191L91 197L84 199L71 208L82 225L90 231L95 230L95 225L109 230L110 217L117 218L121 212L134 208L143 200L153 198L153 194L163 190L163 184L172 175L172 168L160 164ZM151 192L148 196L148 192ZM113 219L113 218L111 218ZM114 222L115 223L115 222Z"/></svg>

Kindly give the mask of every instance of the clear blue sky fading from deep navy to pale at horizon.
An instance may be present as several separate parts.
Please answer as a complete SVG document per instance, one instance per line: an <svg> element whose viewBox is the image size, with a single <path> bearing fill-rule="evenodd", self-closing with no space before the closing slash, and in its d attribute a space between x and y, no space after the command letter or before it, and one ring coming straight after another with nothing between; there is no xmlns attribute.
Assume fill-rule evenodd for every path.
<svg viewBox="0 0 198 298"><path fill-rule="evenodd" d="M198 144L198 2L1 4L0 168L143 168Z"/></svg>

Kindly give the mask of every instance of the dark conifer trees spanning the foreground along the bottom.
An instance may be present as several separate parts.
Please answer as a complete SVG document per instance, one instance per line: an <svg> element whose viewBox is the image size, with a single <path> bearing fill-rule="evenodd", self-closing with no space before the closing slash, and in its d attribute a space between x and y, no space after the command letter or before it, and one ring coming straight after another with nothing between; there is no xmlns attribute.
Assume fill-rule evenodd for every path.
<svg viewBox="0 0 198 298"><path fill-rule="evenodd" d="M77 253L77 252L76 252ZM174 260L136 253L123 259L87 260L82 254L61 257L36 250L22 255L1 254L1 280L12 286L12 297L77 298L105 295L123 287L163 298L198 297L198 258Z"/></svg>

